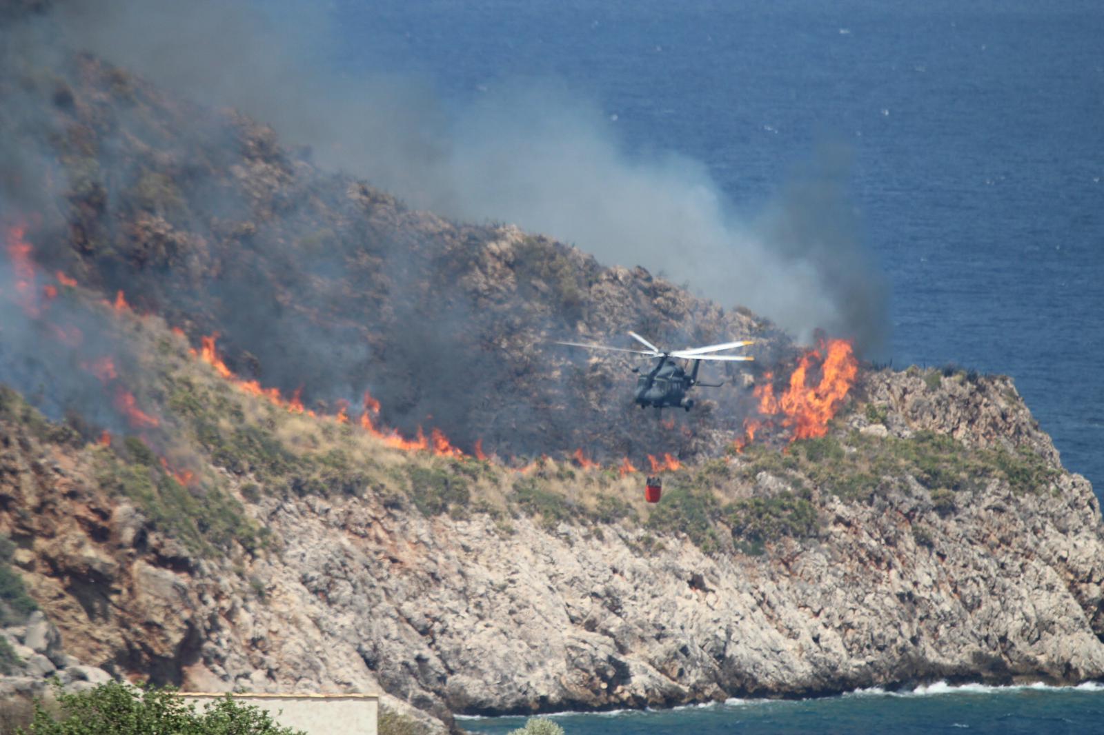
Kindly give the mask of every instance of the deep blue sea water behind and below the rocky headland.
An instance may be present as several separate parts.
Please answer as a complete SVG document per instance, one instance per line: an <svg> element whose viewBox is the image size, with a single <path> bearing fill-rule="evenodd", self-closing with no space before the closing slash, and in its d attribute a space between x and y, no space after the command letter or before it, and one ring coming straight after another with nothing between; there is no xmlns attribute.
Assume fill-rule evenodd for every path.
<svg viewBox="0 0 1104 735"><path fill-rule="evenodd" d="M602 109L624 156L698 161L749 217L818 150L843 148L857 236L890 291L892 331L873 356L1013 376L1063 464L1104 491L1104 3L337 0L329 12L341 32L326 54L342 73L414 75L446 110L550 79ZM505 215L491 202L486 216ZM1104 733L1104 693L936 686L558 721L571 734Z"/></svg>

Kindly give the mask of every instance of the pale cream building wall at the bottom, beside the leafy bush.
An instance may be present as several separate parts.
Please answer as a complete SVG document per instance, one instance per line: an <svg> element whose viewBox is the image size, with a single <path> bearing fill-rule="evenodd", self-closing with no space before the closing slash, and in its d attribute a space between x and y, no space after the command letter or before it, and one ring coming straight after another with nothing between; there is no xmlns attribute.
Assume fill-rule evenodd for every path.
<svg viewBox="0 0 1104 735"><path fill-rule="evenodd" d="M180 692L202 711L222 699L208 692ZM307 735L376 735L380 699L375 694L233 694L234 701L272 714L285 727Z"/></svg>

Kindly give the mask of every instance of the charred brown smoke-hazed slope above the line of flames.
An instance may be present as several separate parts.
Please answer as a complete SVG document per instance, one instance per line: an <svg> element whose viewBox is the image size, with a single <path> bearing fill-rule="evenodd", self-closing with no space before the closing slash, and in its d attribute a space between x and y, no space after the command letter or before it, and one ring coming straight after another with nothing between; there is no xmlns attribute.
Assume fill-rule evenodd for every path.
<svg viewBox="0 0 1104 735"><path fill-rule="evenodd" d="M438 427L469 454L481 439L500 456L587 447L639 464L715 452L721 433L742 432L755 402L745 371L713 371L728 385L665 426L630 403L628 366L640 363L552 340L619 343L634 329L671 345L756 338L761 359L790 354L749 312L510 226L410 211L317 170L262 125L166 98L95 58L3 84L3 132L22 142L4 216L40 271L121 294L194 345L217 335L231 371L320 413L359 412L368 392L383 424L407 437ZM25 313L11 318L33 332ZM38 348L9 339L8 364ZM71 382L52 373L70 394L59 404L87 400Z"/></svg>

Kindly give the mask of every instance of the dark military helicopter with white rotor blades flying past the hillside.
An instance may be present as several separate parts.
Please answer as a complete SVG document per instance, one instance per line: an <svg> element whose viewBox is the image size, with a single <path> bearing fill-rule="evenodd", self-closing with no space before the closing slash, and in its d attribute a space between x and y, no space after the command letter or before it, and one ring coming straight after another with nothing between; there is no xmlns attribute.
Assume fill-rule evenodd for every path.
<svg viewBox="0 0 1104 735"><path fill-rule="evenodd" d="M629 337L640 342L647 350L628 350L626 348L615 348L606 344L586 344L584 342L561 342L556 341L556 344L566 344L569 347L585 348L587 350L611 350L614 352L629 352L633 354L643 354L648 358L657 359L656 365L647 373L640 373L639 368L634 368L634 373L640 373L636 379L636 391L634 393L634 402L640 406L640 408L646 408L647 406L655 406L656 412L661 412L665 407L669 408L684 408L690 411L693 408L693 398L687 397L687 393L690 392L696 385L701 385L702 387L720 387L724 385L721 383L701 383L698 381L698 369L701 366L702 360L715 360L720 362L750 362L755 358L750 355L734 355L734 354L712 354L713 352L721 352L723 350L733 350L735 348L745 347L747 344L753 344L752 340L742 340L739 342L723 342L721 344L710 344L702 348L687 348L684 350L660 350L658 347L644 339L636 332L630 331ZM686 360L684 365L679 365L677 360ZM690 363L693 363L693 368L690 368ZM689 373L687 370L689 369Z"/></svg>

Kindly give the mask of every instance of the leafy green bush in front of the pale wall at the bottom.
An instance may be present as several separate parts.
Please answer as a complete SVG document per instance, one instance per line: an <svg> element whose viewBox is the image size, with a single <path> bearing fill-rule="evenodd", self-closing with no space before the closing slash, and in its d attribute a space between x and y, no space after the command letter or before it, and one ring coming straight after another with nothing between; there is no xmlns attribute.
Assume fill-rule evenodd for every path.
<svg viewBox="0 0 1104 735"><path fill-rule="evenodd" d="M55 715L35 705L31 735L301 735L283 727L258 707L238 704L230 694L202 712L171 689L145 689L107 682L73 694L56 691ZM20 733L24 731L20 729Z"/></svg>

